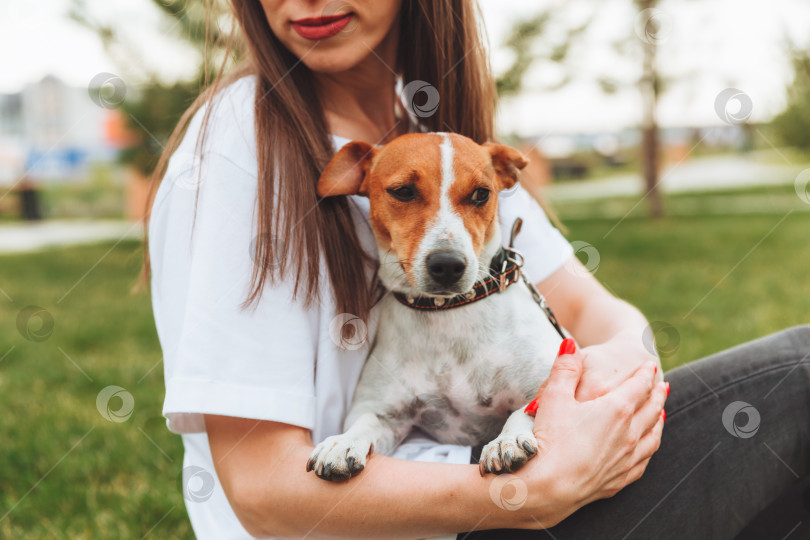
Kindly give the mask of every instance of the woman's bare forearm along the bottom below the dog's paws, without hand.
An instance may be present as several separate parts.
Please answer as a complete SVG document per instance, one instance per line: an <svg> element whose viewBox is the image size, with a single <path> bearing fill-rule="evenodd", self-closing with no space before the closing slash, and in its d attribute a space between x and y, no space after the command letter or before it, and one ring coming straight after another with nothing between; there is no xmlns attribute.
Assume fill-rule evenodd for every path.
<svg viewBox="0 0 810 540"><path fill-rule="evenodd" d="M375 455L333 483L306 472L306 429L210 415L206 429L228 500L257 537L415 538L520 522L492 503L477 466Z"/></svg>

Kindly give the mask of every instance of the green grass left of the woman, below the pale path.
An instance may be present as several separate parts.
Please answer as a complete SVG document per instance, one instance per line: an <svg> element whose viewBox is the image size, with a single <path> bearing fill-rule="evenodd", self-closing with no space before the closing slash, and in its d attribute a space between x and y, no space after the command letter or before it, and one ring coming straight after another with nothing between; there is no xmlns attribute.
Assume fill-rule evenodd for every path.
<svg viewBox="0 0 810 540"><path fill-rule="evenodd" d="M110 247L0 257L0 287L12 299L0 294L0 516L9 512L2 538L140 538L158 522L152 538L192 536L182 444L161 418L149 297L129 293L140 246L122 242L104 257ZM18 331L18 313L29 305L53 318L44 341ZM29 328L48 334L40 319ZM96 408L109 385L134 397L125 422ZM113 398L110 407L121 403Z"/></svg>

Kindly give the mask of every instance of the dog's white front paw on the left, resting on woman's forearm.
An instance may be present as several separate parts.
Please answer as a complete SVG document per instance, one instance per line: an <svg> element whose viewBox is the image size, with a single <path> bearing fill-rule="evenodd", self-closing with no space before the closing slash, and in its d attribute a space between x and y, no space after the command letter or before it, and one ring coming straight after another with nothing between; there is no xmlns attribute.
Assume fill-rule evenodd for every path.
<svg viewBox="0 0 810 540"><path fill-rule="evenodd" d="M366 466L366 456L373 451L371 441L333 435L312 451L307 471L315 471L324 480L342 482L360 473Z"/></svg>

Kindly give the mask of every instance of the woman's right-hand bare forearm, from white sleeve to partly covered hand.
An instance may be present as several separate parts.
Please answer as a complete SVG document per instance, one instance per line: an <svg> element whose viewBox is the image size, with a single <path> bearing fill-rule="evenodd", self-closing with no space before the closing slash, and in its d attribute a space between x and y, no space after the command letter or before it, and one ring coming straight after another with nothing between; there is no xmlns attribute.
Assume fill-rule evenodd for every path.
<svg viewBox="0 0 810 540"><path fill-rule="evenodd" d="M576 256L538 283L537 289L560 324L583 346L585 373L577 398L604 395L647 361L658 364L656 378L662 380L658 355L648 349L651 343L644 342L647 319L608 292Z"/></svg>

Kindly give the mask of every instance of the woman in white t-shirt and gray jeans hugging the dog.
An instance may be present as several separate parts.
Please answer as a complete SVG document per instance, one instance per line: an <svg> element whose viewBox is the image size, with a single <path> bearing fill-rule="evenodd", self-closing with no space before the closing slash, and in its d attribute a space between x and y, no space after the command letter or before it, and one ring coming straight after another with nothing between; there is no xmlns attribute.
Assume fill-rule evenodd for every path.
<svg viewBox="0 0 810 540"><path fill-rule="evenodd" d="M183 434L199 537L548 527L731 537L794 480L780 460L807 474L808 329L674 370L664 413L669 387L644 317L578 266L523 189L500 198L500 217L523 217L525 267L582 346L538 393L539 457L481 478L476 449L413 436L348 482L306 473L313 441L341 431L377 324L367 201L317 200L318 175L351 139L416 129L491 139L493 84L472 0L234 0L233 10L248 65L181 121L150 220L164 415ZM425 94L438 105L403 108L398 76L406 89L435 88ZM335 339L344 323L359 336L352 346ZM733 435L733 418L724 428L736 401L761 415L753 441Z"/></svg>

